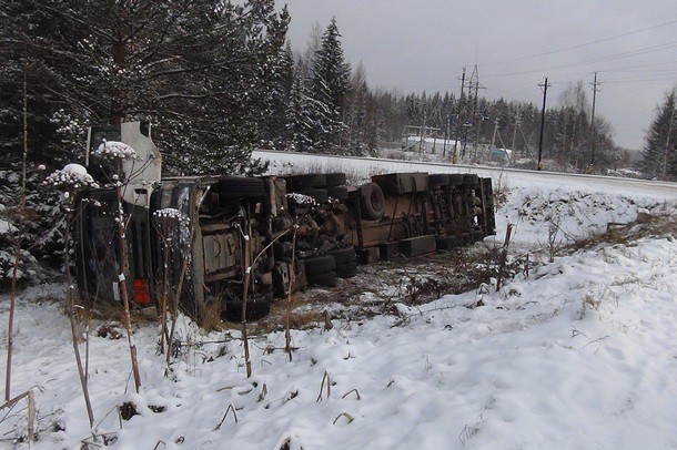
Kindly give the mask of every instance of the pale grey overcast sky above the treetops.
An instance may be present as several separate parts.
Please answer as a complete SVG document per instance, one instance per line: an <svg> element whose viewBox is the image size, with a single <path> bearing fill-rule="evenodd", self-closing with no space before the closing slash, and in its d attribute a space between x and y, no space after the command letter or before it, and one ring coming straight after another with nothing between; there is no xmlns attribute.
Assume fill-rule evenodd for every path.
<svg viewBox="0 0 677 450"><path fill-rule="evenodd" d="M336 18L345 58L362 62L371 88L402 93L461 89L477 64L486 98L533 102L552 84L556 106L585 82L616 143L644 144L667 91L677 84L676 0L287 0L289 37L303 51L313 24Z"/></svg>

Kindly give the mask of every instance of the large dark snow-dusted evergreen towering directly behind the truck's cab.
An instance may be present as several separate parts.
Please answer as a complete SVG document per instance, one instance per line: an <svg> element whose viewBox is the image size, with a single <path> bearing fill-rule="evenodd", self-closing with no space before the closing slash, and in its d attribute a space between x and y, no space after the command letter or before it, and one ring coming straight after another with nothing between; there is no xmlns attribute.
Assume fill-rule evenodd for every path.
<svg viewBox="0 0 677 450"><path fill-rule="evenodd" d="M46 147L73 149L64 137L81 143L88 123L150 119L168 168L233 172L270 113L287 23L274 0L10 0L0 48L31 62L54 121Z"/></svg>

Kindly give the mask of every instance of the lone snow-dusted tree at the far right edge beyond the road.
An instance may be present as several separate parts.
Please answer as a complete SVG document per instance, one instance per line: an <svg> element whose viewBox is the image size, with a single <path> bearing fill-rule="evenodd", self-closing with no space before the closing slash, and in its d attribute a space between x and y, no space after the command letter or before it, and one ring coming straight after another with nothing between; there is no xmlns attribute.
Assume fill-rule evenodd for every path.
<svg viewBox="0 0 677 450"><path fill-rule="evenodd" d="M643 168L647 176L677 178L677 90L665 95L647 131Z"/></svg>

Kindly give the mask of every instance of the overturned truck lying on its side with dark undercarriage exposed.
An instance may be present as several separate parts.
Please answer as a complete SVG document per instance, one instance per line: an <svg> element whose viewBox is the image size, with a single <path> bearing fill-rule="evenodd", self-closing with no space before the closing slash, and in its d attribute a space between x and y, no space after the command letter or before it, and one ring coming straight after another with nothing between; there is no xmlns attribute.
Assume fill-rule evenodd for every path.
<svg viewBox="0 0 677 450"><path fill-rule="evenodd" d="M162 177L148 124L92 129L88 141L88 171L105 186L75 202L78 286L90 303L118 303L125 286L138 308L169 298L195 318L240 320L246 306L254 319L358 264L495 234L492 181L476 174L381 174L360 186L343 173ZM135 157L115 166L95 152L107 142Z"/></svg>

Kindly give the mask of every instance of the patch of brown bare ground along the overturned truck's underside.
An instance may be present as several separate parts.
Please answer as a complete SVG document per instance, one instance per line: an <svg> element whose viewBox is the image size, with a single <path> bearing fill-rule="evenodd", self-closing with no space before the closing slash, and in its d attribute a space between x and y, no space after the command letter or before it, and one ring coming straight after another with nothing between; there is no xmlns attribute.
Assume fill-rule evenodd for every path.
<svg viewBox="0 0 677 450"><path fill-rule="evenodd" d="M506 264L504 278L521 272L522 264ZM307 288L293 294L290 326L327 328L333 326L332 320L360 324L376 315L395 316L396 304L422 305L447 294L473 290L491 283L498 270L499 248L493 242L362 265L355 277L340 279L333 288ZM287 300L277 300L267 317L252 324L254 333L283 330L286 310Z"/></svg>

